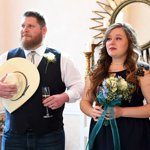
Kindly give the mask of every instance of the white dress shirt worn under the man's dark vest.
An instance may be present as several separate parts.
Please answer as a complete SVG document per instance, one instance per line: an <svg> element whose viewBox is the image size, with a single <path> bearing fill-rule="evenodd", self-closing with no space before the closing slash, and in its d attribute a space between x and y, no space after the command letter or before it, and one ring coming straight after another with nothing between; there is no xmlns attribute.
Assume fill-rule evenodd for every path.
<svg viewBox="0 0 150 150"><path fill-rule="evenodd" d="M35 65L38 66L43 54L45 52L46 46L42 45L39 48L37 48L36 54L35 54ZM31 55L29 53L31 52L30 50L24 50L26 59L29 61L31 60ZM0 65L3 64L6 59L7 59L7 54L8 52L2 54L0 56ZM69 96L69 102L75 102L76 100L79 100L81 98L82 92L83 92L83 79L81 77L81 74L79 70L76 68L75 64L73 61L64 54L61 54L61 78L62 81L66 85L66 91L65 93Z"/></svg>

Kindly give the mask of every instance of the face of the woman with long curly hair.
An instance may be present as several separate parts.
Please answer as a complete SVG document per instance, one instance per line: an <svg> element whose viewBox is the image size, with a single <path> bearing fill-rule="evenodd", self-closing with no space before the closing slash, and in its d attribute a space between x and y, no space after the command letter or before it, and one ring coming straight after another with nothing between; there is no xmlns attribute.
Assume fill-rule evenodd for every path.
<svg viewBox="0 0 150 150"><path fill-rule="evenodd" d="M108 35L106 49L112 58L126 57L128 45L128 38L122 28L115 28Z"/></svg>

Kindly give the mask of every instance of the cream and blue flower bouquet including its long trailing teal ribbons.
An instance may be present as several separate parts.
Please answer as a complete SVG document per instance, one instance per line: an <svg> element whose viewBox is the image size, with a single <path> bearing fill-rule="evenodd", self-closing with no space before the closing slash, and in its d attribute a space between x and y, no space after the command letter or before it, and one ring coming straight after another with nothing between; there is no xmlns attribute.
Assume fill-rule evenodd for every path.
<svg viewBox="0 0 150 150"><path fill-rule="evenodd" d="M134 88L135 87L133 83L127 82L121 76L110 76L102 82L101 86L98 87L97 100L100 104L102 104L104 111L101 117L98 118L98 121L96 122L90 134L86 149L92 149L95 137L98 131L101 129L102 125L107 126L110 123L114 142L114 149L120 150L120 138L116 119L115 117L113 117L113 119L106 120L105 115L108 112L109 118L110 114L115 116L113 107L116 105L120 105L122 100L130 102L131 93Z"/></svg>

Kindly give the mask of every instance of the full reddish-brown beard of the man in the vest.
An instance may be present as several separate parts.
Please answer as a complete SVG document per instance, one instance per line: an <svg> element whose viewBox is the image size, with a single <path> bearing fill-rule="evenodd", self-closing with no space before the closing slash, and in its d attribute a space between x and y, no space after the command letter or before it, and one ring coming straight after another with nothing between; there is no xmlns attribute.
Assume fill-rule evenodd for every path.
<svg viewBox="0 0 150 150"><path fill-rule="evenodd" d="M38 45L41 44L42 40L43 40L42 34L38 34L34 39L31 40L22 40L21 38L21 44L24 49L31 50L36 49Z"/></svg>

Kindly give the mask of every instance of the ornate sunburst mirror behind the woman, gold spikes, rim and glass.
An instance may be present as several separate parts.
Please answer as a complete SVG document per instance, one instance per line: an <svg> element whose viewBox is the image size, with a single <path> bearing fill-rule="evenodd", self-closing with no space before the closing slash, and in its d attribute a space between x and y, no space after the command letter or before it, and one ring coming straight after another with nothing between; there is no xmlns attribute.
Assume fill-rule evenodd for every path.
<svg viewBox="0 0 150 150"><path fill-rule="evenodd" d="M92 45L92 52L94 53L95 47L101 43L104 32L110 24L127 22L133 26L137 33L142 56L145 55L144 60L150 63L150 0L106 0L106 2L99 0L97 4L101 10L93 11L98 17L91 19L99 25L90 29L99 32L93 36L99 42ZM92 56L94 59L94 55Z"/></svg>

